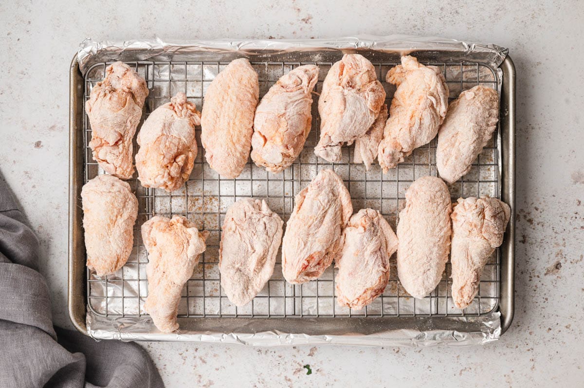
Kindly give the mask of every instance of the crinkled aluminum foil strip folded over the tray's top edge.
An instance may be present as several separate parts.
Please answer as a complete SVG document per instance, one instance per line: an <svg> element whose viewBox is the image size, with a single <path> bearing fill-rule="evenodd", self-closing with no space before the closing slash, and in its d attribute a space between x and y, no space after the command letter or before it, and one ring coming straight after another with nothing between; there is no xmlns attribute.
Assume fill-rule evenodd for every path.
<svg viewBox="0 0 584 388"><path fill-rule="evenodd" d="M439 37L416 37L409 35L343 37L338 39L307 40L200 40L200 41L103 41L86 39L79 46L77 60L82 74L92 65L104 61L186 61L197 53L203 61L231 60L248 54L289 55L297 50L322 51L378 50L385 53L405 55L416 53L420 61L432 58L437 51L449 52L450 61L464 60L472 54L474 60L498 68L508 53L506 48L495 44L467 43ZM225 54L231 54L232 58ZM421 55L420 55L421 54Z"/></svg>

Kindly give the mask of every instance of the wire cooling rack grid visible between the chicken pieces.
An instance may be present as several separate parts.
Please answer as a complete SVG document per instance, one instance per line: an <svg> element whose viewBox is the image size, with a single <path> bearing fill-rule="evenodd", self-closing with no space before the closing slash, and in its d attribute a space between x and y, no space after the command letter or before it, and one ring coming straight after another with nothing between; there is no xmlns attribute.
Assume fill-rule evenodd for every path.
<svg viewBox="0 0 584 388"><path fill-rule="evenodd" d="M150 89L145 103L142 121L148 114L169 101L177 92L185 92L188 99L201 110L204 92L214 76L227 62L127 62L144 76ZM272 174L255 166L248 160L244 172L236 179L220 179L204 162L204 149L200 144L200 128L197 128L199 153L194 162L190 179L182 189L171 194L164 190L144 188L137 177L128 181L138 198L138 221L134 229L134 248L123 268L105 278L96 277L87 270L88 306L101 316L140 316L147 296L145 267L147 252L141 243L140 226L152 215L185 215L196 223L197 228L208 230L207 250L201 255L182 291L179 317L397 317L397 316L479 316L491 312L498 304L500 293L499 250L485 266L478 295L465 310L458 310L450 297L450 262L446 265L442 281L424 299L409 296L399 284L395 255L391 261L391 277L383 295L366 308L356 311L336 304L334 277L336 270L331 266L321 278L302 285L288 284L281 274L280 254L278 254L274 274L265 288L248 305L235 307L221 291L218 271L218 247L221 225L228 207L239 198L263 198L270 208L277 212L284 222L293 209L294 195L310 183L311 179L324 168L332 168L345 181L353 200L353 208L371 207L378 209L395 230L398 212L404 206L405 190L413 180L421 176L436 176L436 139L416 149L411 156L396 169L382 174L380 166L374 164L369 172L363 165L349 161L353 159L353 147L343 147L340 163L329 163L316 158L314 146L319 138L318 93L331 62L252 62L258 71L260 97L277 79L301 64L317 64L321 69L313 94L312 130L305 148L293 166L283 173ZM94 65L85 75L84 102L89 99L91 88L103 79L105 68L110 62ZM450 100L461 91L481 84L497 89L497 78L491 68L484 65L462 63L429 63L440 67L446 76L450 89ZM395 86L385 82L385 74L395 63L374 63L377 75L387 92L387 104ZM138 127L140 130L140 126ZM91 127L84 115L85 182L101 173L92 159L89 140ZM491 195L500 197L500 144L498 131L475 160L470 172L460 181L449 185L451 197ZM134 142L134 152L137 145Z"/></svg>

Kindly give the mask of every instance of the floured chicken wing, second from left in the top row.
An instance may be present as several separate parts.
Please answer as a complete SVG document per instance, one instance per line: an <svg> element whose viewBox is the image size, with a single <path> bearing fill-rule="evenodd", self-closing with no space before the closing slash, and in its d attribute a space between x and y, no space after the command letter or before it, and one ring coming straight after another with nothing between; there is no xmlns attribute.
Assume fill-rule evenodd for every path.
<svg viewBox="0 0 584 388"><path fill-rule="evenodd" d="M200 113L185 93L154 110L138 132L136 169L144 187L177 190L187 179L197 157L194 127Z"/></svg>

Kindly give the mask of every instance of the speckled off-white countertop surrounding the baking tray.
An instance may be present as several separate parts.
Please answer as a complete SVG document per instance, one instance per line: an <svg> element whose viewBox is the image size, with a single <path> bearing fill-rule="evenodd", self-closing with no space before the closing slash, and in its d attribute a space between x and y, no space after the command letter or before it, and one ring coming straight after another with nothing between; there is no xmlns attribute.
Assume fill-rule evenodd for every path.
<svg viewBox="0 0 584 388"><path fill-rule="evenodd" d="M170 2L169 2L170 3ZM584 3L15 1L0 5L0 171L67 316L68 68L80 41L416 34L508 47L517 70L516 313L484 347L144 342L169 387L579 386L584 381ZM310 364L306 375L303 365Z"/></svg>

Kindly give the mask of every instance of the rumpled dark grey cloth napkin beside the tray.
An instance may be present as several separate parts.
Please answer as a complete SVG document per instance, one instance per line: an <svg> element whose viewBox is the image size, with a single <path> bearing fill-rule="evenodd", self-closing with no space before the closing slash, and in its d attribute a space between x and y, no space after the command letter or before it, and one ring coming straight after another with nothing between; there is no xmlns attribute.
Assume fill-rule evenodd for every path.
<svg viewBox="0 0 584 388"><path fill-rule="evenodd" d="M0 176L0 387L163 387L133 342L54 327L39 241Z"/></svg>

